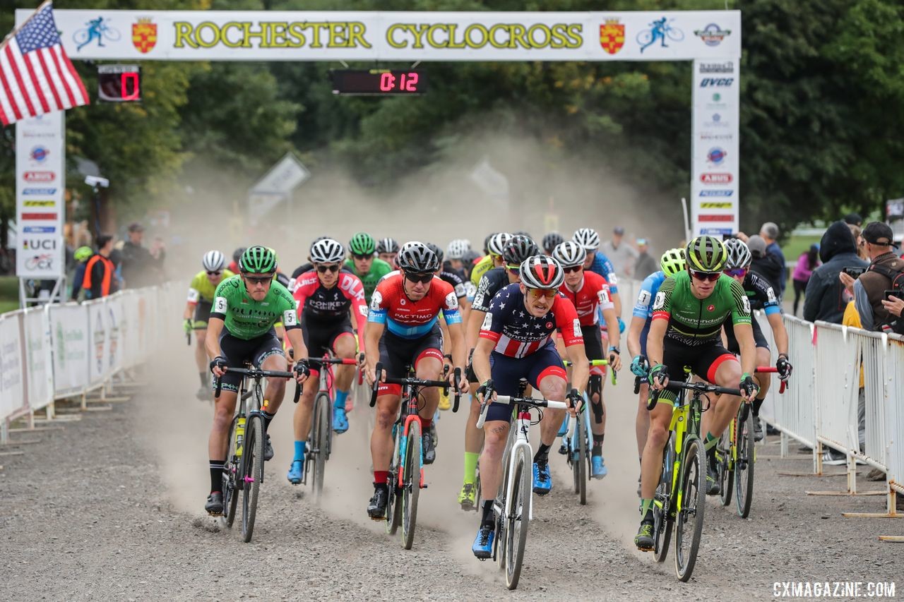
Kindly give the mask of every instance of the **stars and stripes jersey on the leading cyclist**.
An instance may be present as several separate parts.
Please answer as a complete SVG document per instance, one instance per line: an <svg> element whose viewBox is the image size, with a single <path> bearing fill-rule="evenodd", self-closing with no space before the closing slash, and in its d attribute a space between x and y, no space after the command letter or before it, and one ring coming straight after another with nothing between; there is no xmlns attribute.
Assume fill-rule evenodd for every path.
<svg viewBox="0 0 904 602"><path fill-rule="evenodd" d="M503 287L493 297L480 327L480 336L496 343L495 353L508 357L526 357L550 343L559 330L566 346L584 344L578 312L564 296L552 299L550 311L534 317L524 306L521 285Z"/></svg>

